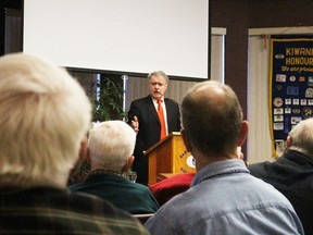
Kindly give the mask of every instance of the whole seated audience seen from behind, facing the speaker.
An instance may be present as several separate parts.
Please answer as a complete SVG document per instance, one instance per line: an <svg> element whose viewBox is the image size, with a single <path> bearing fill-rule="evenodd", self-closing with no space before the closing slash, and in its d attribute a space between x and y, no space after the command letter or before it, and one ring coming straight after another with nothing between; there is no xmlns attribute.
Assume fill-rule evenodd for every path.
<svg viewBox="0 0 313 235"><path fill-rule="evenodd" d="M183 99L197 173L149 187L125 177L136 132L123 121L90 127L84 89L43 59L0 58L0 234L313 235L313 119L277 161L247 168L238 148L249 124L227 85L201 82ZM88 175L70 184L85 160Z"/></svg>

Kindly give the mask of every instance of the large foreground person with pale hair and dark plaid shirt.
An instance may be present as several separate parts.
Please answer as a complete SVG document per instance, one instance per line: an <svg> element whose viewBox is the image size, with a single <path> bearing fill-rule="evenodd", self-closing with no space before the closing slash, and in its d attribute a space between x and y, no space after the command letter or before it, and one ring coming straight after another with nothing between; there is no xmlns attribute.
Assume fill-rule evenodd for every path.
<svg viewBox="0 0 313 235"><path fill-rule="evenodd" d="M148 234L130 214L66 185L91 107L78 83L23 53L0 58L0 233Z"/></svg>

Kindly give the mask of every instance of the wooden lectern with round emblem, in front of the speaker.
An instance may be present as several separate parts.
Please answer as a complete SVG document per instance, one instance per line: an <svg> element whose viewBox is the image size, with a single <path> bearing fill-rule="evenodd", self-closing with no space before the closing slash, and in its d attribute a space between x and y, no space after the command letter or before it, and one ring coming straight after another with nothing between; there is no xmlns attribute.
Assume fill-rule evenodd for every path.
<svg viewBox="0 0 313 235"><path fill-rule="evenodd" d="M179 132L171 133L149 148L145 154L149 159L149 185L162 180L162 173L196 172L193 157L186 150Z"/></svg>

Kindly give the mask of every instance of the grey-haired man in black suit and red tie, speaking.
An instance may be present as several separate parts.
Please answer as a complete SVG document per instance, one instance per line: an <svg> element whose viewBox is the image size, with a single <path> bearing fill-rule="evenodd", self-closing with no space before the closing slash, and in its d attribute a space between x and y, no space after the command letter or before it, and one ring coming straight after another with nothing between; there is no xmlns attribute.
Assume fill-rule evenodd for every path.
<svg viewBox="0 0 313 235"><path fill-rule="evenodd" d="M180 131L180 113L175 100L164 98L168 76L163 71L148 75L149 96L134 100L128 111L128 124L137 133L133 171L137 183L148 185L148 156L143 151L172 132Z"/></svg>

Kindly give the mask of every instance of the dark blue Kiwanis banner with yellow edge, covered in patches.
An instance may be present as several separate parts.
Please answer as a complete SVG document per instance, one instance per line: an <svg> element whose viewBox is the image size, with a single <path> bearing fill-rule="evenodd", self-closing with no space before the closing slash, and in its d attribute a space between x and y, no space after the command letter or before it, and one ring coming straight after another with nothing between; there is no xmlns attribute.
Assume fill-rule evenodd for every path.
<svg viewBox="0 0 313 235"><path fill-rule="evenodd" d="M270 128L277 158L291 128L313 116L313 37L272 37L270 57Z"/></svg>

